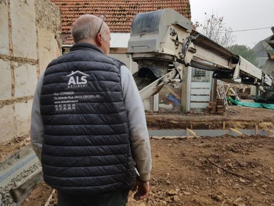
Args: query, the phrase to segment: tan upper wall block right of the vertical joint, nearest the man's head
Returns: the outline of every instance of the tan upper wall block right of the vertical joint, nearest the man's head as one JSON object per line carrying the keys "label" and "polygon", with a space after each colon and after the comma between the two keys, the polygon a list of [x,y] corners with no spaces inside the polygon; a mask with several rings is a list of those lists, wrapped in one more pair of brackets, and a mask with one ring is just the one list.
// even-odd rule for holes
{"label": "tan upper wall block right of the vertical joint, nearest the man's head", "polygon": [[47,65],[59,56],[58,43],[55,34],[45,28],[38,29],[39,67],[42,73]]}

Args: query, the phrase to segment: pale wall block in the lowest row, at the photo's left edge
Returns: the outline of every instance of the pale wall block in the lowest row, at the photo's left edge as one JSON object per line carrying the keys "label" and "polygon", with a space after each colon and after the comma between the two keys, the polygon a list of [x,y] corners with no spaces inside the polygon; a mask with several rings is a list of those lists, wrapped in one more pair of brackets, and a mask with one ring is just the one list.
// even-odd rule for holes
{"label": "pale wall block in the lowest row, at the photo's left edge", "polygon": [[12,105],[0,108],[0,144],[6,143],[16,136],[16,122],[13,116]]}

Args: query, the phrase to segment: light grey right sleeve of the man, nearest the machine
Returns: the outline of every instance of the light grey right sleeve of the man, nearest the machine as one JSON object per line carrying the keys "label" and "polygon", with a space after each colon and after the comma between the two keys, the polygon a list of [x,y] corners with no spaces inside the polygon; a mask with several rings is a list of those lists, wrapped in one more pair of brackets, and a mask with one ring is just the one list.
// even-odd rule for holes
{"label": "light grey right sleeve of the man, nearest the machine", "polygon": [[151,152],[144,105],[130,71],[121,67],[122,91],[128,117],[131,152],[140,179],[148,181],[151,171]]}

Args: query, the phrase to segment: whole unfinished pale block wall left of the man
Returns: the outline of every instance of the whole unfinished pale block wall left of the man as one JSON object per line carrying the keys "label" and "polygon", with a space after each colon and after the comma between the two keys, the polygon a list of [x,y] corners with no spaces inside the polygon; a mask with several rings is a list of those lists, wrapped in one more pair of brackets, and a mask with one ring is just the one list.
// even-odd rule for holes
{"label": "whole unfinished pale block wall left of the man", "polygon": [[60,33],[50,0],[0,0],[0,144],[29,132],[36,84],[61,52]]}

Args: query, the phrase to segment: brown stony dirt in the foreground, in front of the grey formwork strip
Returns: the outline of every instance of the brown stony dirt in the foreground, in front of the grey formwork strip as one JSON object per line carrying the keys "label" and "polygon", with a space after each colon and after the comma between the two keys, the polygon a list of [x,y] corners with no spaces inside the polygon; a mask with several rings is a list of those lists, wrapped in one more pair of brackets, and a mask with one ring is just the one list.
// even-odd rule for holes
{"label": "brown stony dirt in the foreground, in front of the grey formwork strip", "polygon": [[[274,206],[274,137],[150,139],[150,195],[127,206]],[[37,186],[23,206],[42,206]],[[51,206],[56,204],[54,195]]]}

